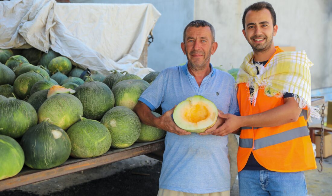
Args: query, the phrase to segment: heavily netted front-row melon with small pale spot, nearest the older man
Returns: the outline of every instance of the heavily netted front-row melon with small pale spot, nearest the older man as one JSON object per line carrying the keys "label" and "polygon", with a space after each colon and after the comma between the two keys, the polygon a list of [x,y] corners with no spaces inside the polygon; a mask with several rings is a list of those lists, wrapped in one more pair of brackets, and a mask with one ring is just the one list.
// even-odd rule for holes
{"label": "heavily netted front-row melon with small pale spot, nearest the older man", "polygon": [[112,148],[127,148],[139,137],[141,122],[131,109],[116,106],[108,110],[100,121],[110,131]]}

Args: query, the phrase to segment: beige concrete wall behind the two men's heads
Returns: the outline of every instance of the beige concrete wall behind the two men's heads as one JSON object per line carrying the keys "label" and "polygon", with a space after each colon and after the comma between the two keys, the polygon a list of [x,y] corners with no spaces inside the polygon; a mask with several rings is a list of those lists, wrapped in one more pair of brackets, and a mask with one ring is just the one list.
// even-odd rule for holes
{"label": "beige concrete wall behind the two men's heads", "polygon": [[[255,0],[195,0],[194,20],[210,22],[216,30],[218,49],[211,63],[238,68],[252,51],[242,34],[242,14]],[[332,86],[332,1],[270,0],[277,14],[275,45],[305,50],[314,63],[311,88]]]}

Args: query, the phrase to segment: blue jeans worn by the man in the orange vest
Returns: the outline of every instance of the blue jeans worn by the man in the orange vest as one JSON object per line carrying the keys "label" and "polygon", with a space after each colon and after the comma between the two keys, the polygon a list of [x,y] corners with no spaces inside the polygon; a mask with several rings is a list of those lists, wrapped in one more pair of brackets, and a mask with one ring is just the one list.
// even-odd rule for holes
{"label": "blue jeans worn by the man in the orange vest", "polygon": [[304,172],[275,172],[242,170],[239,172],[240,196],[305,196],[307,187]]}

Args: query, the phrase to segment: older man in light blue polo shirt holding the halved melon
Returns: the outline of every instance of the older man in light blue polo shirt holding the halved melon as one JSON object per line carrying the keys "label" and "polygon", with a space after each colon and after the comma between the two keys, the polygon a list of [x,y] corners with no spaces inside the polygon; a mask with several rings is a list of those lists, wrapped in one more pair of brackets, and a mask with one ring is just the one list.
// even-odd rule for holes
{"label": "older man in light blue polo shirt holding the halved melon", "polygon": [[[134,107],[142,123],[167,131],[158,196],[229,195],[227,136],[187,132],[174,123],[172,114],[181,101],[201,95],[223,113],[239,115],[235,81],[210,64],[218,46],[211,24],[202,20],[189,23],[183,39],[181,48],[188,62],[161,71]],[[151,110],[159,106],[163,115],[155,117]],[[218,118],[214,128],[221,123]]]}

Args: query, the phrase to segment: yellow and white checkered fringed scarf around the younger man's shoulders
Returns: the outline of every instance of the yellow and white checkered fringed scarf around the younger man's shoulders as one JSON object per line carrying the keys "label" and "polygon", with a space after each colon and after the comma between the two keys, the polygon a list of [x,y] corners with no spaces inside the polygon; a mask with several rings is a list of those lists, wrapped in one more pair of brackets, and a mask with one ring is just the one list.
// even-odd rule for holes
{"label": "yellow and white checkered fringed scarf around the younger man's shoulders", "polygon": [[[264,88],[267,96],[282,97],[284,93],[297,95],[294,97],[299,108],[308,106],[310,116],[319,118],[319,109],[310,106],[310,70],[313,63],[308,59],[305,51],[279,52],[272,57],[264,67],[261,64],[253,65],[254,53],[249,53],[243,60],[238,72],[236,83],[247,83],[254,88],[250,100],[255,105],[259,88]],[[258,66],[259,74],[257,74]],[[308,112],[309,113],[309,112]]]}

